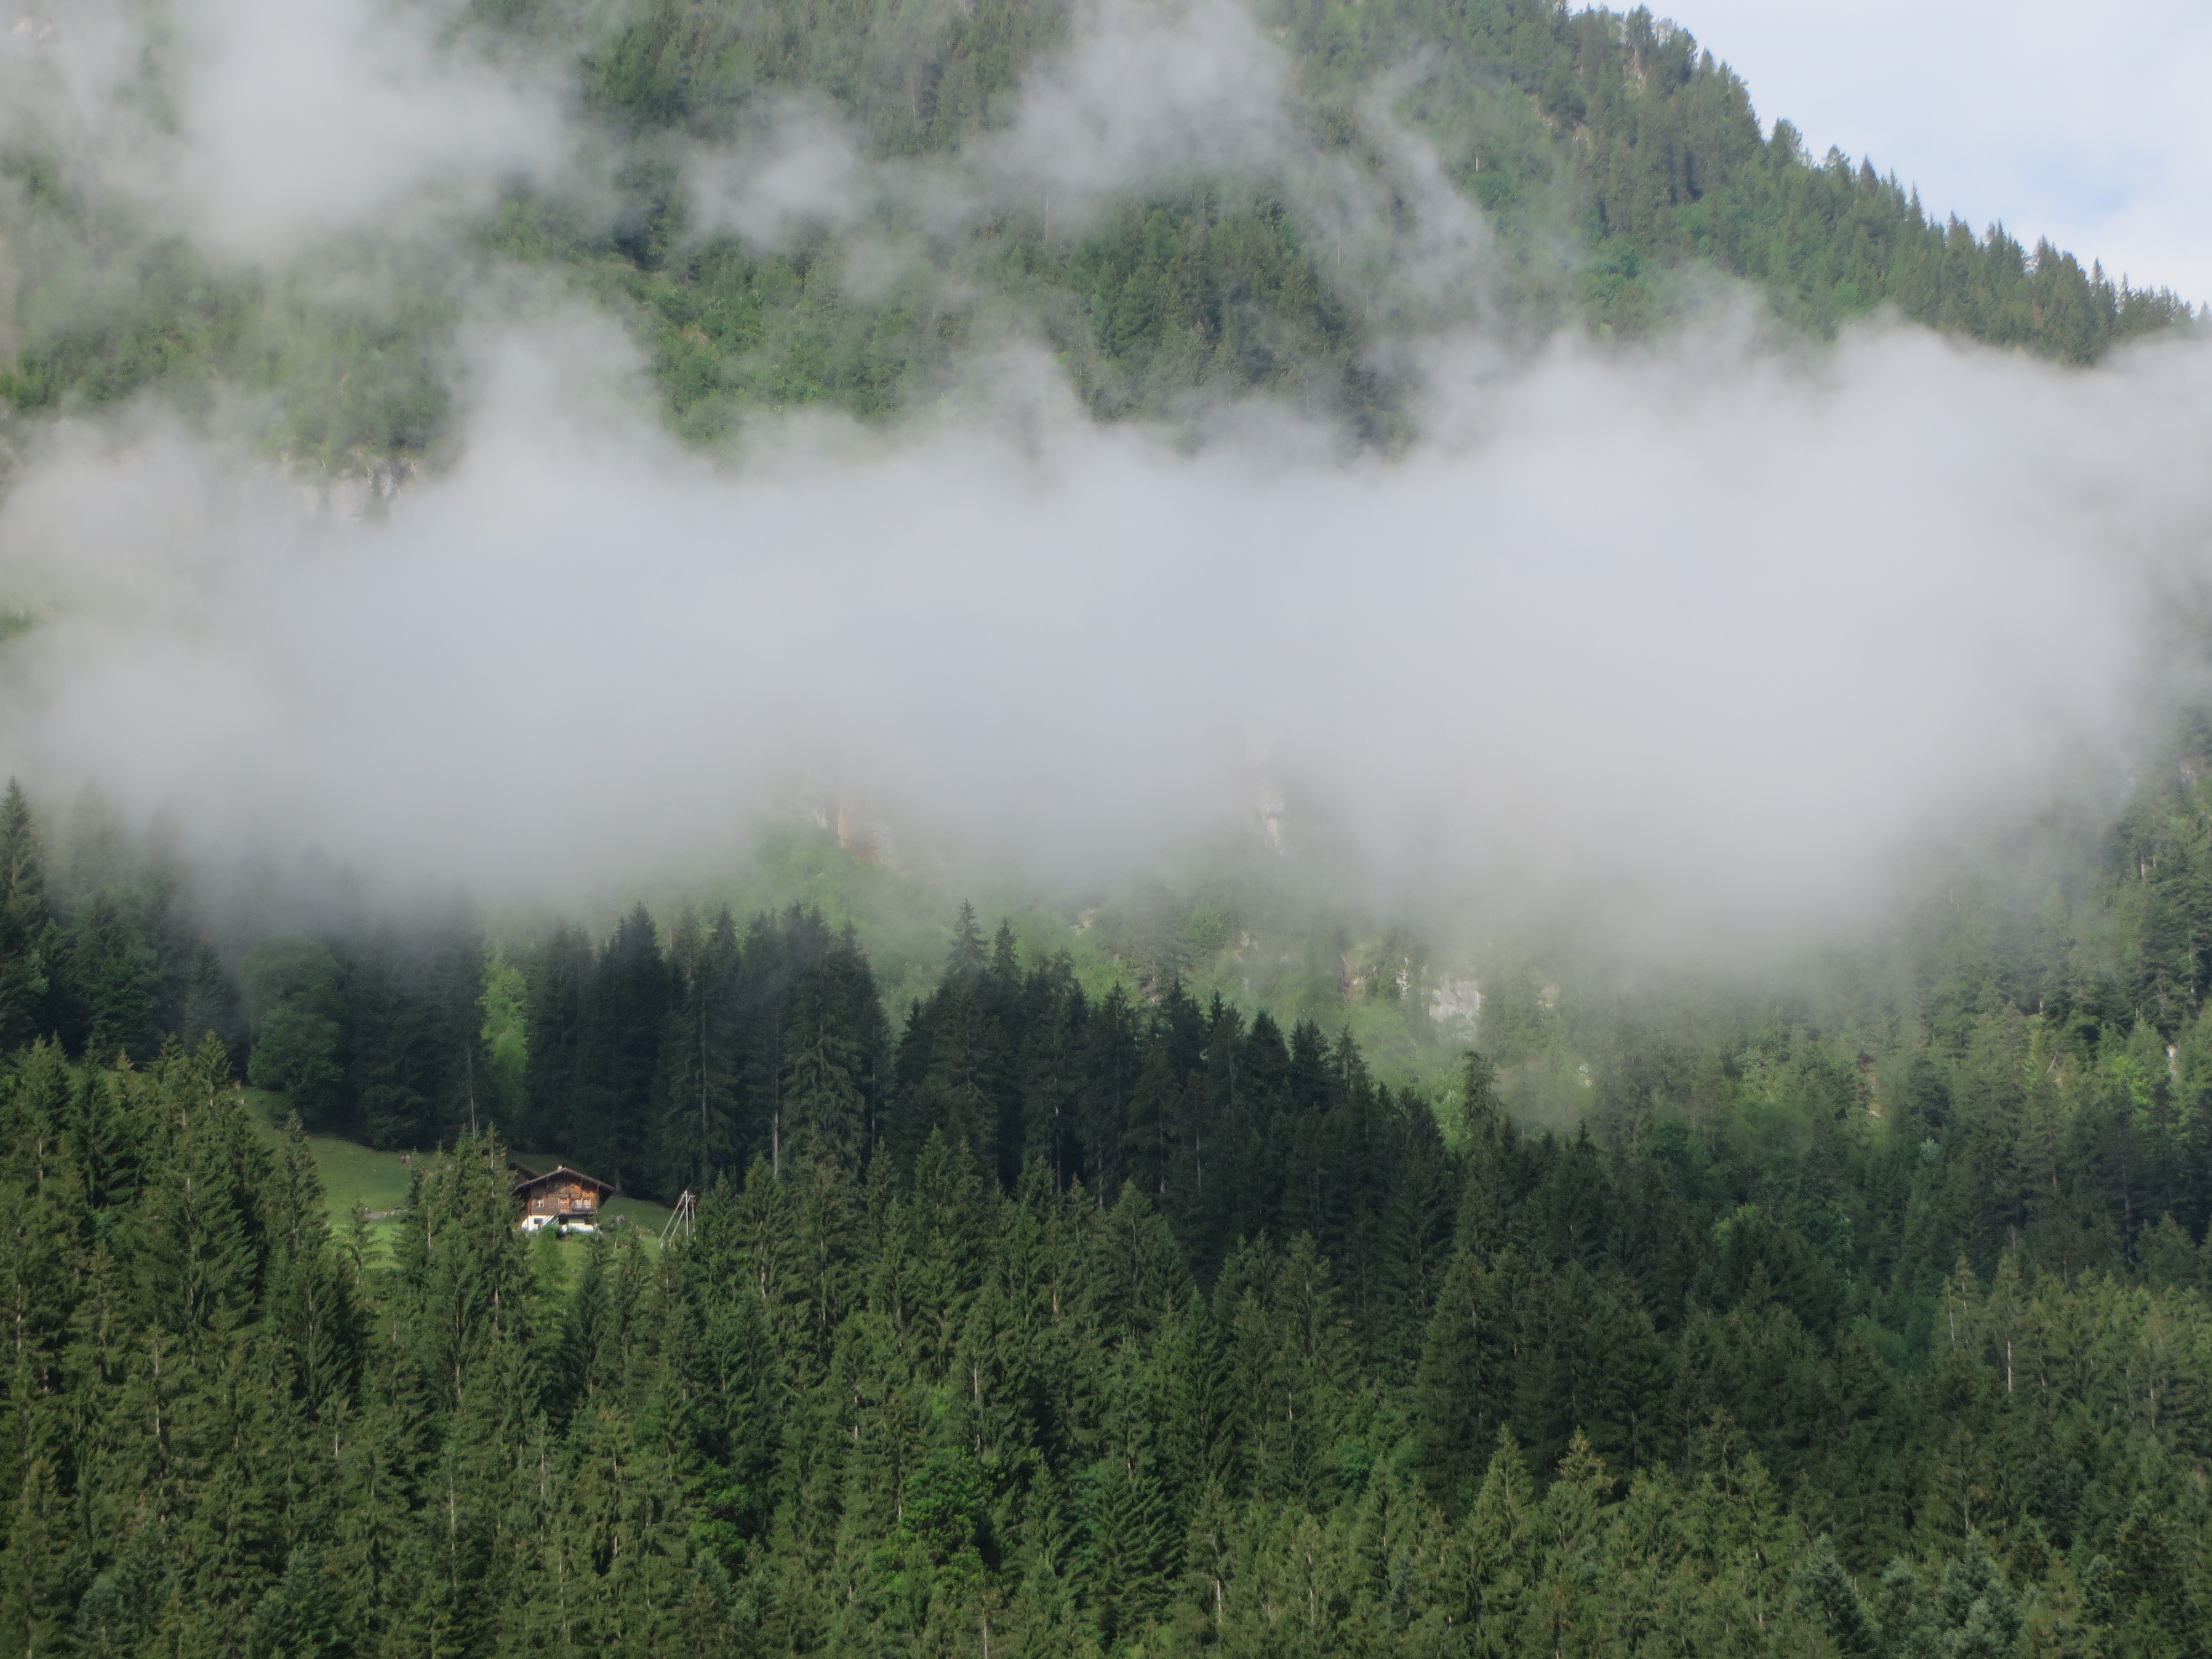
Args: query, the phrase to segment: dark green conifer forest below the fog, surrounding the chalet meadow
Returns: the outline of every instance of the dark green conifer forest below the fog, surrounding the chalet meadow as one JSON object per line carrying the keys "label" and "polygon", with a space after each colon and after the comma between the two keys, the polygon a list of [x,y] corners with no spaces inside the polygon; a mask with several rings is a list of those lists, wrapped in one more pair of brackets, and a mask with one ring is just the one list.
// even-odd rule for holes
{"label": "dark green conifer forest below the fog, surrounding the chalet meadow", "polygon": [[[270,940],[226,1031],[181,902],[49,885],[15,792],[0,1641],[2203,1652],[2212,785],[2163,776],[2039,911],[1953,887],[1803,1002],[1568,987],[1440,1102],[964,911],[896,1011],[812,914],[639,909],[489,993],[467,927]],[[1557,1133],[1502,1093],[1540,1013]],[[389,1234],[226,1035],[447,1148]],[[531,1243],[500,1130],[697,1225]]]}

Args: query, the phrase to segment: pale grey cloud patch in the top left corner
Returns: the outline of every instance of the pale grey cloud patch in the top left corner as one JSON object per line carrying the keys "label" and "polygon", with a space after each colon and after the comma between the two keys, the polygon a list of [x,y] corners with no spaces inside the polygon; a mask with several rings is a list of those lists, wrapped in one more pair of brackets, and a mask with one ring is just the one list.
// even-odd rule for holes
{"label": "pale grey cloud patch in the top left corner", "polygon": [[[568,153],[551,84],[476,55],[453,7],[124,0],[0,9],[11,133],[219,257],[451,230]],[[13,13],[9,18],[7,13]]]}

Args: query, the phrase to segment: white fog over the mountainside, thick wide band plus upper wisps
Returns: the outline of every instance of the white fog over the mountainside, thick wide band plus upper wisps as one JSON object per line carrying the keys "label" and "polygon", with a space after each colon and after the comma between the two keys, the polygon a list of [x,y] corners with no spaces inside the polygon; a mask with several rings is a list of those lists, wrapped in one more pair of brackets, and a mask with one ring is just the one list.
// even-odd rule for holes
{"label": "white fog over the mountainside, thick wide band plus upper wisps", "polygon": [[[226,257],[588,150],[405,31],[316,55],[367,15],[325,4],[261,9],[312,13],[285,27],[336,77],[332,128],[268,157],[239,104],[279,46],[217,29],[243,0],[177,11],[215,91],[126,161],[195,181]],[[1181,80],[1102,77],[1148,51],[1106,15],[1029,88],[1026,173],[967,157],[945,199],[1186,166],[1203,124],[1115,108],[1124,80],[1294,148],[1241,13],[1168,15],[1203,44]],[[407,142],[347,170],[387,119]],[[690,166],[706,221],[763,246],[896,184],[805,104]],[[1440,332],[1389,456],[1265,405],[1099,427],[1020,341],[889,429],[761,418],[697,453],[613,319],[498,281],[456,349],[458,460],[380,518],[150,407],[46,425],[0,500],[0,586],[42,619],[0,650],[0,765],[55,801],[97,781],[206,860],[312,847],[487,905],[681,883],[836,792],[962,872],[1073,891],[1194,841],[1327,845],[1374,902],[1582,898],[1641,945],[1840,927],[1931,834],[2112,803],[2190,672],[2201,341],[2097,372],[1889,323],[1776,347],[1743,301],[1502,354],[1480,219],[1418,146],[1398,166],[1429,206],[1391,281]]]}

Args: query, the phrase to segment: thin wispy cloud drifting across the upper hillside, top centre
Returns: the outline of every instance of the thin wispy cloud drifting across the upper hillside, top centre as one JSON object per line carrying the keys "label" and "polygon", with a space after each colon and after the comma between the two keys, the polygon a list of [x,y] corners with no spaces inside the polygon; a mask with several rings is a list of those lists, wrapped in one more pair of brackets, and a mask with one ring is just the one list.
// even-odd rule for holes
{"label": "thin wispy cloud drifting across the upper hillside, top centre", "polygon": [[869,159],[827,102],[763,100],[737,139],[690,148],[688,228],[763,252],[838,230],[845,276],[865,285],[920,241],[1009,212],[1068,239],[1130,195],[1225,181],[1287,201],[1332,290],[1378,334],[1493,321],[1493,237],[1433,146],[1394,117],[1402,86],[1363,102],[1363,159],[1352,159],[1292,119],[1292,73],[1237,0],[1102,0],[1031,69],[1013,122],[956,153]]}

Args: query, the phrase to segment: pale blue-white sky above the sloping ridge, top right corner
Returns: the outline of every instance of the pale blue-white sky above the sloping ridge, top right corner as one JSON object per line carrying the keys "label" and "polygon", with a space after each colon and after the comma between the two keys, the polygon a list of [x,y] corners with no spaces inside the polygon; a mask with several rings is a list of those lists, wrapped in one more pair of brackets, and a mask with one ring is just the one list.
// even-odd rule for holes
{"label": "pale blue-white sky above the sloping ridge, top right corner", "polygon": [[1834,144],[1978,230],[2004,221],[2212,301],[2212,4],[1679,0],[1672,15],[1814,155]]}

